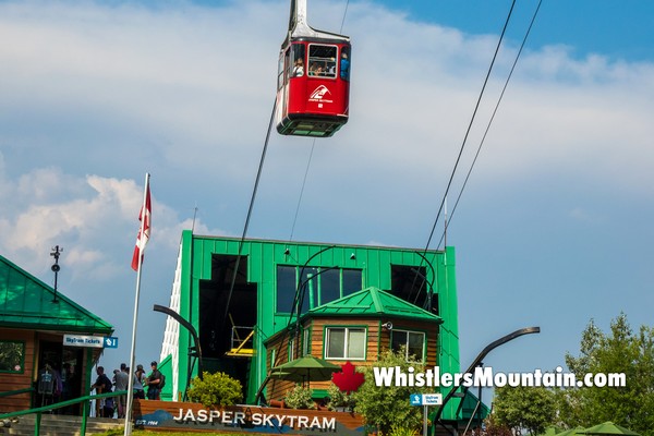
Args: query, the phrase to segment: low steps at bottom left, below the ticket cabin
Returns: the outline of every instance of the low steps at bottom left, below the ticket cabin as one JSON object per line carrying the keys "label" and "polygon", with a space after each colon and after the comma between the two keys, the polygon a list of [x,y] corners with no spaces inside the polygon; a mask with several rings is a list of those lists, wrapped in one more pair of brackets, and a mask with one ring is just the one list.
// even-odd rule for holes
{"label": "low steps at bottom left, below the ticket cabin", "polygon": [[[94,435],[106,433],[113,428],[124,426],[124,420],[110,417],[87,417],[86,434]],[[36,414],[24,415],[5,420],[0,423],[0,435],[34,435]],[[40,422],[40,436],[80,436],[82,428],[82,416],[52,415],[44,413]]]}

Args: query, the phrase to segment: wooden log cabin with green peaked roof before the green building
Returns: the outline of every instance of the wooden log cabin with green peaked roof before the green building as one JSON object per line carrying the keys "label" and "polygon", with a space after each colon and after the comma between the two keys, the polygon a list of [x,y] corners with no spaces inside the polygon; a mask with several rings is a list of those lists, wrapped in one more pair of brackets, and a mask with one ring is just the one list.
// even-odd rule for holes
{"label": "wooden log cabin with green peaked roof before the green building", "polygon": [[[298,327],[289,326],[266,340],[267,370],[304,355],[370,366],[389,349],[403,350],[409,362],[436,366],[440,324],[443,319],[433,313],[378,288],[366,288],[310,310]],[[330,384],[307,380],[312,398],[319,402]],[[267,397],[279,403],[294,386],[295,382],[270,377]]]}

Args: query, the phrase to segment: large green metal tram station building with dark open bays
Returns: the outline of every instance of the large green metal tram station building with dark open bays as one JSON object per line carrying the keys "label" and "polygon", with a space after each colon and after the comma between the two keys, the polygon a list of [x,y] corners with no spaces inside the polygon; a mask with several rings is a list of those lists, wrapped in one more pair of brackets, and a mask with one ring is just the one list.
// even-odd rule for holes
{"label": "large green metal tram station building with dark open bays", "polygon": [[[293,307],[305,314],[370,287],[437,315],[436,361],[441,372],[457,373],[455,266],[453,247],[241,241],[184,231],[170,308],[197,331],[204,370],[239,378],[247,402],[266,377],[264,341],[293,324]],[[194,347],[192,334],[169,317],[159,366],[169,380],[162,399],[182,399],[190,375],[197,374]],[[444,417],[453,414],[448,408]]]}

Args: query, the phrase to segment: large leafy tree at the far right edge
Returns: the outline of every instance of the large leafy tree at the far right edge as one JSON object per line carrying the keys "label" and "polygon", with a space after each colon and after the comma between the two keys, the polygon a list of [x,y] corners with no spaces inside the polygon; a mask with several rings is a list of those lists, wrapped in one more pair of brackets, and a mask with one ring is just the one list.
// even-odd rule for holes
{"label": "large leafy tree at the far right edge", "polygon": [[634,332],[625,314],[604,334],[591,319],[582,334],[580,355],[566,355],[578,380],[585,374],[625,374],[625,387],[579,387],[557,392],[560,420],[569,427],[606,421],[643,436],[654,436],[654,329]]}

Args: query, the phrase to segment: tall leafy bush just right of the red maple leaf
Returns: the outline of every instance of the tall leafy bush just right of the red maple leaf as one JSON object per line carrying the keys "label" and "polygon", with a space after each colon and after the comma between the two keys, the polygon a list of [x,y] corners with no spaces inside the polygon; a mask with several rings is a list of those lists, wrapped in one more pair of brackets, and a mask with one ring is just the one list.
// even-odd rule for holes
{"label": "tall leafy bush just right of the red maple leaf", "polygon": [[[375,385],[373,367],[397,366],[404,374],[408,374],[410,366],[414,368],[414,373],[424,372],[423,364],[407,362],[405,351],[400,349],[393,353],[386,350],[373,366],[360,367],[365,375],[365,383],[352,393],[352,400],[356,404],[354,412],[361,413],[367,425],[377,427],[385,435],[393,427],[420,428],[422,425],[422,408],[411,405],[410,402],[411,393],[421,392],[420,388]],[[425,389],[422,390],[426,392]]]}

